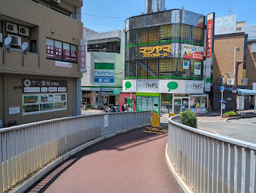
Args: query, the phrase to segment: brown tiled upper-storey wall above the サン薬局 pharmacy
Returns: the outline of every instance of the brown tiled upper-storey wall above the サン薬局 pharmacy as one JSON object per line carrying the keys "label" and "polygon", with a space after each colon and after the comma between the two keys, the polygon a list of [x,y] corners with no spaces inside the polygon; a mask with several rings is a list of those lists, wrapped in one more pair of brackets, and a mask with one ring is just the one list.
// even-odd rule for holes
{"label": "brown tiled upper-storey wall above the \u30b5\u30f3\u85ac\u5c40 pharmacy", "polygon": [[[80,40],[83,38],[83,24],[75,19],[72,19],[64,14],[51,10],[46,6],[41,6],[38,3],[29,0],[10,0],[1,1],[0,14],[10,17],[10,19],[17,19],[29,23],[29,25],[35,26],[33,28],[39,28],[38,42],[39,43],[39,62],[41,68],[38,68],[38,60],[35,59],[32,63],[25,64],[25,68],[21,68],[21,57],[18,56],[15,59],[15,63],[8,59],[8,55],[11,58],[17,57],[21,53],[10,52],[7,54],[6,65],[0,65],[1,70],[19,70],[21,72],[31,72],[31,65],[33,65],[33,72],[38,74],[52,74],[52,75],[66,75],[69,77],[82,77],[82,73],[79,72],[77,63],[72,63],[72,68],[61,68],[55,66],[55,61],[46,59],[46,37],[50,39],[56,39],[66,43],[79,45]],[[54,33],[52,33],[52,30]],[[33,30],[31,30],[31,33]],[[31,34],[37,36],[38,34]],[[75,39],[73,39],[75,37]],[[13,57],[12,57],[13,56]],[[19,65],[17,65],[19,63]],[[0,61],[1,64],[1,61]]]}

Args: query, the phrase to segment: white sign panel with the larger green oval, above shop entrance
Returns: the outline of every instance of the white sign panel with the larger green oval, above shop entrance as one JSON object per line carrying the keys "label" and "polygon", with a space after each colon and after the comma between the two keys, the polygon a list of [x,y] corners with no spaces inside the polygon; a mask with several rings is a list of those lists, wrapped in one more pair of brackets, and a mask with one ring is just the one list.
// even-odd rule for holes
{"label": "white sign panel with the larger green oval, above shop entrance", "polygon": [[185,80],[160,80],[160,93],[185,93]]}

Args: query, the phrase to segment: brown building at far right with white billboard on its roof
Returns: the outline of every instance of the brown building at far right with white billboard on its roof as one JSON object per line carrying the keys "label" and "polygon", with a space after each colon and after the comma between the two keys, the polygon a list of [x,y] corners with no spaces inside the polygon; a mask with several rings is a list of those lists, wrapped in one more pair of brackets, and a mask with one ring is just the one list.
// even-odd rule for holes
{"label": "brown building at far right with white billboard on its roof", "polygon": [[[215,111],[220,110],[220,105],[217,104],[221,99],[221,85],[225,88],[232,88],[235,85],[236,61],[243,62],[237,72],[237,88],[251,90],[252,83],[256,82],[256,26],[245,26],[246,22],[237,22],[236,17],[234,14],[217,17],[215,20],[213,89],[210,94]],[[236,93],[225,90],[226,110],[234,109],[235,97]],[[243,98],[244,109],[253,108],[254,98],[253,94],[247,94]]]}

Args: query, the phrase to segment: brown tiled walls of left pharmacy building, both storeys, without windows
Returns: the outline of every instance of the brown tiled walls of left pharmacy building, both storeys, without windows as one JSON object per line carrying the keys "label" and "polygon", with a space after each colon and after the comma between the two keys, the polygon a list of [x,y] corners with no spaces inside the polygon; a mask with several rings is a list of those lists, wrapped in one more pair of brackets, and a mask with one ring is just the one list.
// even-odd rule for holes
{"label": "brown tiled walls of left pharmacy building, both storeys, without windows", "polygon": [[[75,11],[75,6],[70,4],[72,1],[62,1],[63,4],[61,6],[71,12]],[[82,0],[75,1],[79,2],[77,4],[80,5],[82,3]],[[17,124],[23,124],[73,116],[75,114],[74,85],[77,79],[82,77],[82,73],[77,63],[72,63],[72,68],[63,68],[55,66],[55,60],[46,59],[46,38],[63,41],[79,47],[80,40],[83,38],[83,23],[48,8],[47,2],[46,6],[42,6],[30,0],[0,1],[0,23],[3,23],[3,20],[30,28],[30,40],[37,40],[37,53],[27,52],[23,54],[21,50],[7,52],[0,48],[0,119],[3,123],[17,121]],[[3,32],[3,29],[0,32]],[[25,37],[22,39],[22,42],[24,41],[26,41]],[[3,63],[3,52],[6,56],[4,57],[5,63]],[[4,81],[5,76],[6,82]],[[68,81],[68,110],[22,115],[23,93],[22,89],[19,88],[22,86],[22,79]],[[7,104],[5,104],[5,83]],[[19,114],[8,114],[10,105],[20,105],[21,112]],[[5,117],[6,112],[8,114],[7,117]]]}

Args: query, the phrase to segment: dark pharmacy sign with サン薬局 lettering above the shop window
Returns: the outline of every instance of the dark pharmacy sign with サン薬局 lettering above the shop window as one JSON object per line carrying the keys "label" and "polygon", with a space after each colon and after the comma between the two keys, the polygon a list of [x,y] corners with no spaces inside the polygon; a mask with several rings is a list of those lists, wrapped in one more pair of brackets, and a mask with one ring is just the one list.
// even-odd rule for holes
{"label": "dark pharmacy sign with \u30b5\u30f3\u85ac\u5c40 lettering above the shop window", "polygon": [[22,79],[22,92],[67,92],[68,81]]}

